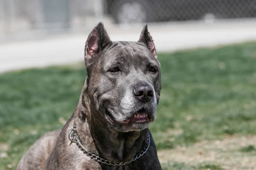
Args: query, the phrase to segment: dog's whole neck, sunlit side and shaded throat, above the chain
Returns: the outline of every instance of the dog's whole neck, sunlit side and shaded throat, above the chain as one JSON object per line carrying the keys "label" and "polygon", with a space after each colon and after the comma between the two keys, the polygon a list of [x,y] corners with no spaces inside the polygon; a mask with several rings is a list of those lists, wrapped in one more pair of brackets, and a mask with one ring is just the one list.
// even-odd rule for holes
{"label": "dog's whole neck, sunlit side and shaded throat, above the chain", "polygon": [[90,105],[86,95],[80,99],[76,113],[74,122],[80,142],[87,151],[103,159],[113,163],[130,161],[147,145],[148,129],[125,133],[113,130],[103,114]]}

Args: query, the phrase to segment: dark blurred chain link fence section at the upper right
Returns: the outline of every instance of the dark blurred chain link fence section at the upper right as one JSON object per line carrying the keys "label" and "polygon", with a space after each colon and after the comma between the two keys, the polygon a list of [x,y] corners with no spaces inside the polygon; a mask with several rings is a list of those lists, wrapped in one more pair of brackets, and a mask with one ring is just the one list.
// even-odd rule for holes
{"label": "dark blurred chain link fence section at the upper right", "polygon": [[256,0],[107,0],[116,23],[256,17]]}

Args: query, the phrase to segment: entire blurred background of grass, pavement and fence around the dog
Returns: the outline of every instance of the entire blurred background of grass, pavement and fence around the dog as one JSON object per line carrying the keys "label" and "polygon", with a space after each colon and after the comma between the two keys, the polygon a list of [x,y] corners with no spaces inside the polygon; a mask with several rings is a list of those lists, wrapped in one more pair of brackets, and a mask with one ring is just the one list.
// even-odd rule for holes
{"label": "entire blurred background of grass, pavement and fence around the dog", "polygon": [[256,0],[0,0],[0,170],[70,118],[99,21],[113,41],[148,24],[163,170],[256,170]]}

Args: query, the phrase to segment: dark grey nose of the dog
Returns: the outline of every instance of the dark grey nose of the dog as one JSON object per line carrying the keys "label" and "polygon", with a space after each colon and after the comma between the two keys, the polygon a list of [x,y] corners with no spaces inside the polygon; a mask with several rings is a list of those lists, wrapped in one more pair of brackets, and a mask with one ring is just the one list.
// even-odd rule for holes
{"label": "dark grey nose of the dog", "polygon": [[140,85],[134,88],[134,95],[142,102],[149,102],[154,92],[150,85]]}

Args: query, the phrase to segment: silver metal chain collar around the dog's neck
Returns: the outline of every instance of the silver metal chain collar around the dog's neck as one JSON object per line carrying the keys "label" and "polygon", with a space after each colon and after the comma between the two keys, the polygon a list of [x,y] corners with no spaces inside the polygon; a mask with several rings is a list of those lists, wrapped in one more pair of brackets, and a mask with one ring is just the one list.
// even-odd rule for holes
{"label": "silver metal chain collar around the dog's neck", "polygon": [[122,162],[118,162],[118,163],[111,163],[110,161],[103,159],[93,153],[87,152],[84,149],[84,146],[81,144],[81,142],[79,142],[79,135],[76,131],[76,125],[73,126],[73,129],[70,130],[69,134],[68,134],[68,139],[73,142],[76,143],[77,147],[87,156],[89,156],[91,159],[94,159],[98,162],[101,162],[103,164],[107,164],[107,165],[112,165],[112,166],[121,166],[121,165],[125,165],[125,164],[130,164],[132,161],[135,161],[136,159],[139,159],[141,156],[144,155],[144,153],[147,152],[149,145],[150,145],[150,135],[148,133],[148,144],[147,146],[137,155],[135,155],[130,161],[122,161]]}

